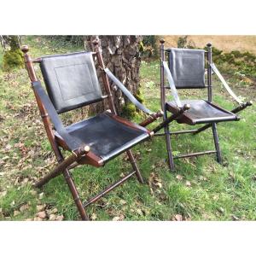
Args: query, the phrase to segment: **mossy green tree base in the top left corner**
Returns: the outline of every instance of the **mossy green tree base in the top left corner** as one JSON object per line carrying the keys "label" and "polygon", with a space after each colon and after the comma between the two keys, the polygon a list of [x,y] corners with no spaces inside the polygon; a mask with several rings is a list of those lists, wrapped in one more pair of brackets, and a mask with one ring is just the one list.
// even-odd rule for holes
{"label": "mossy green tree base in the top left corner", "polygon": [[3,46],[3,69],[9,70],[23,66],[19,36],[1,36]]}

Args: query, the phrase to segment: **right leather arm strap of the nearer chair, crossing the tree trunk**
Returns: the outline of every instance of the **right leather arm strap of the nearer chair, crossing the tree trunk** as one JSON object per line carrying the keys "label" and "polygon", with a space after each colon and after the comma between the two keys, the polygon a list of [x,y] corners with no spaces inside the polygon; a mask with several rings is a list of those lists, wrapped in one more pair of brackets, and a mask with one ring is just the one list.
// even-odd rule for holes
{"label": "right leather arm strap of the nearer chair, crossing the tree trunk", "polygon": [[113,81],[114,84],[116,84],[120,90],[122,90],[122,92],[125,94],[125,96],[140,110],[142,110],[144,113],[148,113],[148,114],[152,114],[153,112],[151,112],[148,108],[146,108],[141,102],[137,101],[137,99],[135,98],[135,96],[133,96],[131,94],[131,92],[129,90],[127,90],[127,88],[125,87],[124,84],[122,84],[119,79],[117,79],[113,73],[111,73],[111,71],[108,68],[104,69],[105,73],[107,73],[108,78],[111,79]]}

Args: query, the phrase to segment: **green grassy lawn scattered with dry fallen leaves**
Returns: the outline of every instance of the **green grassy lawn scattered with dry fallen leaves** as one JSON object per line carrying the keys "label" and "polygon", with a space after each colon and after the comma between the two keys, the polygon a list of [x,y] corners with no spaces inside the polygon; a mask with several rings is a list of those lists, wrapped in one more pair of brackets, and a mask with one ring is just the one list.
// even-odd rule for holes
{"label": "green grassy lawn scattered with dry fallen leaves", "polygon": [[[69,44],[56,44],[44,38],[27,37],[33,57],[79,50]],[[45,211],[45,219],[77,220],[79,215],[62,176],[51,180],[43,189],[32,183],[52,170],[52,153],[38,107],[32,94],[26,70],[3,73],[0,49],[0,219],[38,219]],[[39,68],[37,68],[38,70]],[[231,79],[232,88],[247,100],[256,96],[256,83],[241,85]],[[141,84],[145,105],[160,108],[159,61],[143,61]],[[214,80],[214,102],[232,109],[230,96]],[[238,86],[240,85],[240,86]],[[180,96],[198,98],[207,91],[180,90]],[[170,97],[171,98],[171,97]],[[154,137],[133,152],[146,184],[135,177],[114,189],[106,197],[88,207],[94,220],[254,220],[256,219],[256,107],[240,114],[239,122],[218,125],[224,164],[219,165],[213,155],[176,160],[176,172],[166,165],[164,137]],[[64,114],[65,123],[83,119],[83,113]],[[135,118],[135,120],[142,118]],[[155,124],[154,124],[155,125]],[[154,125],[151,125],[153,127]],[[187,129],[173,123],[172,131]],[[212,131],[172,137],[176,153],[212,150]],[[96,195],[131,170],[125,154],[102,168],[79,166],[73,170],[80,196],[85,200]]]}

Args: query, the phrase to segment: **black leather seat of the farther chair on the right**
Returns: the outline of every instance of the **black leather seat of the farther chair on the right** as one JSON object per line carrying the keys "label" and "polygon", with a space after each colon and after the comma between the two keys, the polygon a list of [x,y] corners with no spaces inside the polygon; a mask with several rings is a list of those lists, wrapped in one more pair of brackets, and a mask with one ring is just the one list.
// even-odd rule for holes
{"label": "black leather seat of the farther chair on the right", "polygon": [[[185,123],[188,125],[218,123],[223,121],[238,120],[235,113],[231,113],[224,108],[214,105],[212,102],[205,100],[187,100],[182,101],[183,104],[189,104],[190,108],[183,113],[178,123]],[[177,113],[178,108],[175,102],[166,102],[166,109],[171,113]]]}

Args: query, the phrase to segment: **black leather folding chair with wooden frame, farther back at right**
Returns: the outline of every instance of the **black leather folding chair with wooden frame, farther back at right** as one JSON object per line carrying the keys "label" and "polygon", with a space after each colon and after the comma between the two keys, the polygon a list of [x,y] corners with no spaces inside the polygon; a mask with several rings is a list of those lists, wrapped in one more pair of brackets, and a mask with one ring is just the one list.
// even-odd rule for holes
{"label": "black leather folding chair with wooden frame, farther back at right", "polygon": [[[174,170],[174,159],[193,157],[201,154],[216,154],[218,163],[222,162],[221,152],[218,142],[216,124],[219,122],[239,120],[236,113],[252,105],[252,102],[241,102],[241,99],[230,89],[223,76],[218,72],[217,67],[212,62],[212,44],[207,44],[207,51],[204,49],[165,49],[165,41],[160,40],[160,96],[161,108],[164,112],[164,119],[168,119],[167,113],[177,114],[181,108],[186,106],[186,111],[180,113],[176,118],[177,123],[187,125],[203,125],[199,129],[187,131],[170,131],[169,123],[164,127],[166,137],[167,156],[170,169]],[[168,55],[168,62],[165,55]],[[205,84],[205,55],[207,61],[207,85]],[[225,110],[212,102],[212,72],[216,73],[224,88],[230,96],[239,104],[231,111]],[[165,85],[165,75],[168,85]],[[180,101],[177,94],[178,89],[203,89],[207,88],[207,100],[185,100]],[[166,89],[171,89],[174,101],[166,102]],[[183,106],[184,105],[184,106]],[[198,134],[212,127],[215,150],[208,150],[192,154],[179,154],[173,156],[171,146],[171,136],[174,134],[192,133]]]}

